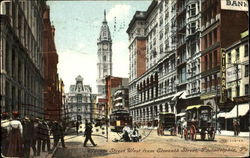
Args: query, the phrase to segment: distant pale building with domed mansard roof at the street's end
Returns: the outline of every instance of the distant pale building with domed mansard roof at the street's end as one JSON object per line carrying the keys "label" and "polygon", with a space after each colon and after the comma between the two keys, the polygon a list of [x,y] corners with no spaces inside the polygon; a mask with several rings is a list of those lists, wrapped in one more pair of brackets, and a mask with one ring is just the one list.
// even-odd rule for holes
{"label": "distant pale building with domed mansard roof at the street's end", "polygon": [[89,85],[84,85],[83,78],[76,77],[76,84],[70,85],[69,93],[66,93],[66,106],[70,121],[85,122],[92,121],[93,114],[92,89]]}

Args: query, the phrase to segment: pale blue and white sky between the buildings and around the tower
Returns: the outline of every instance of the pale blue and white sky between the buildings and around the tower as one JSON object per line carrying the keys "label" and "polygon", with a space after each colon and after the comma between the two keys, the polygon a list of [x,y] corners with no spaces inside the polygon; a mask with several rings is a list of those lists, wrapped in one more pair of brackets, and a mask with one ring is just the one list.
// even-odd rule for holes
{"label": "pale blue and white sky between the buildings and around the tower", "polygon": [[97,38],[106,9],[112,37],[113,76],[129,77],[129,50],[126,30],[136,11],[146,11],[152,0],[48,1],[50,20],[55,26],[59,56],[58,73],[65,92],[81,75],[83,84],[96,93]]}

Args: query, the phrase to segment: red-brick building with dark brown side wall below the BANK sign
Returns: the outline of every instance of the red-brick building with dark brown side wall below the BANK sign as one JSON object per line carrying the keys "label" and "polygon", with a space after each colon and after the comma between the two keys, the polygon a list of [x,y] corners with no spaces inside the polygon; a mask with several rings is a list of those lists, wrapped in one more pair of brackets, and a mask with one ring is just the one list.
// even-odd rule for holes
{"label": "red-brick building with dark brown side wall below the BANK sign", "polygon": [[[220,2],[208,0],[201,5],[201,100],[214,110],[221,100],[218,97],[224,93],[221,91],[221,49],[240,40],[240,33],[248,28],[245,12],[222,10]],[[223,107],[218,110],[220,108]]]}

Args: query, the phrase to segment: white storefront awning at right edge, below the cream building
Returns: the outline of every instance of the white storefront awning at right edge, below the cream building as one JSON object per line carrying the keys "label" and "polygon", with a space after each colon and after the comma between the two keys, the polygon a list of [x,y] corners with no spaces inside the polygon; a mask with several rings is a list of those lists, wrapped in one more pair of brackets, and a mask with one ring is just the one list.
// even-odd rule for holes
{"label": "white storefront awning at right edge, below the cream building", "polygon": [[[238,105],[238,116],[245,116],[248,111],[249,111],[248,103]],[[229,118],[236,118],[236,117],[237,117],[237,105],[235,105],[234,108],[226,114],[225,118],[229,119]]]}

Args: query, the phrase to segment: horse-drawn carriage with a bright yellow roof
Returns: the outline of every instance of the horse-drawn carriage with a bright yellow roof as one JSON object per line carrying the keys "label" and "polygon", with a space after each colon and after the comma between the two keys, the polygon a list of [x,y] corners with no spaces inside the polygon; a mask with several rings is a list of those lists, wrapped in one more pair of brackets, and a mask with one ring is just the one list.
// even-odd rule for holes
{"label": "horse-drawn carriage with a bright yellow roof", "polygon": [[215,128],[212,121],[213,109],[209,105],[191,105],[186,108],[187,127],[184,128],[184,138],[196,140],[200,134],[201,140],[214,140]]}

